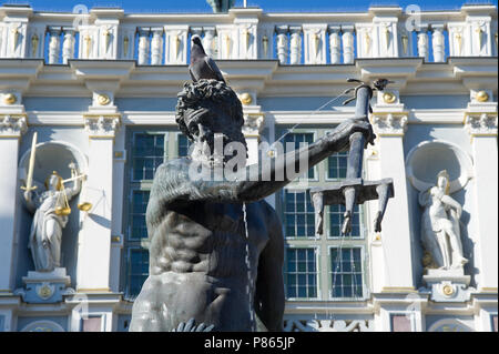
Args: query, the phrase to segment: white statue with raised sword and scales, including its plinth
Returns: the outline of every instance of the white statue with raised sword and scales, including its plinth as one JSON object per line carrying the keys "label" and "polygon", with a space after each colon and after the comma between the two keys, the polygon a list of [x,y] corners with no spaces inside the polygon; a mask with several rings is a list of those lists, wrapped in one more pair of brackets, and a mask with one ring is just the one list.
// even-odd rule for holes
{"label": "white statue with raised sword and scales, including its plinth", "polygon": [[[35,185],[33,180],[34,162],[37,158],[37,138],[34,132],[29,156],[26,185],[21,186],[27,210],[33,214],[29,231],[28,247],[34,263],[34,271],[23,276],[26,289],[20,289],[24,302],[53,303],[62,300],[63,294],[72,293],[69,287],[70,276],[61,264],[61,245],[63,230],[71,214],[70,200],[78,194],[80,202],[78,209],[89,212],[92,203],[85,201],[85,189],[82,191],[82,181],[86,175],[79,173],[74,161],[69,163],[71,178],[63,179],[57,171],[50,173],[44,180],[45,190]],[[70,158],[71,160],[74,158]],[[62,159],[62,156],[61,156]],[[68,185],[72,182],[72,185]]]}

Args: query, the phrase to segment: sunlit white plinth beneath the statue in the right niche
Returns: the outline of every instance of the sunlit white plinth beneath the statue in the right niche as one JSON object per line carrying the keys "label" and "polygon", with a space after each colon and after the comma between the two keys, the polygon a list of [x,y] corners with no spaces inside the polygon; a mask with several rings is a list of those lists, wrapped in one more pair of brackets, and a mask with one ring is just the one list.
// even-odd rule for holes
{"label": "sunlit white plinth beneath the statue in the right niche", "polygon": [[422,281],[431,291],[430,300],[435,302],[465,302],[470,299],[468,285],[470,275],[465,275],[465,270],[428,270]]}

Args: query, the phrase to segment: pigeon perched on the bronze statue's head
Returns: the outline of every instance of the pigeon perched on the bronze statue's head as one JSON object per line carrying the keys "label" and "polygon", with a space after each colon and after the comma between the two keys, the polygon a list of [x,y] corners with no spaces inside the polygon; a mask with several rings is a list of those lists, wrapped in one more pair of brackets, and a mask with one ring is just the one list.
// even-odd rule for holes
{"label": "pigeon perched on the bronze statue's head", "polygon": [[189,73],[194,82],[197,82],[200,79],[214,79],[226,83],[215,61],[206,55],[201,38],[197,34],[192,37]]}

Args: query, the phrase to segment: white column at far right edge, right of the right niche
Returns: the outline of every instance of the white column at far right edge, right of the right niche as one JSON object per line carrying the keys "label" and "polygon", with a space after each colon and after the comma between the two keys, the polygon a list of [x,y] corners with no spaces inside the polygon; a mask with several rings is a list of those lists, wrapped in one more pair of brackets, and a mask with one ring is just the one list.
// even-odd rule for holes
{"label": "white column at far right edge, right of the right niche", "polygon": [[493,111],[468,111],[465,128],[471,136],[475,162],[475,230],[478,246],[477,287],[480,292],[498,289],[498,148],[497,103]]}

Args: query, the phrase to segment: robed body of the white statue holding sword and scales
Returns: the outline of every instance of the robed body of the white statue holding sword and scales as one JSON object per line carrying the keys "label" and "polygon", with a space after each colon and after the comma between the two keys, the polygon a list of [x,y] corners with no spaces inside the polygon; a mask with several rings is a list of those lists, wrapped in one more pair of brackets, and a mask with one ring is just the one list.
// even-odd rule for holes
{"label": "robed body of the white statue holding sword and scales", "polygon": [[24,201],[28,210],[34,213],[31,224],[28,247],[37,272],[51,272],[61,266],[62,230],[68,223],[71,212],[69,200],[81,190],[81,179],[78,178],[74,163],[71,169],[72,188],[64,188],[62,178],[53,171],[45,179],[44,192],[27,189]]}

